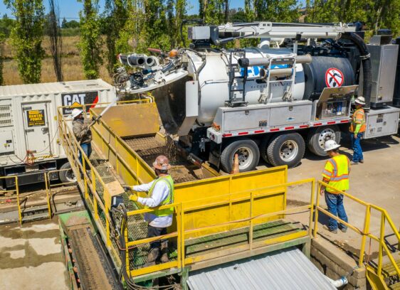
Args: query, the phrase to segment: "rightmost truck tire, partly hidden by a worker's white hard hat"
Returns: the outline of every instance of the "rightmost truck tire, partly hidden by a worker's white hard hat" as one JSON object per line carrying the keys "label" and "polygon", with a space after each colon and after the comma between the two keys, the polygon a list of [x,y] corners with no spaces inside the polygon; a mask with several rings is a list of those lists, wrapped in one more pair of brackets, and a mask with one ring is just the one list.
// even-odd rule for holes
{"label": "rightmost truck tire, partly hidden by a worker's white hard hat", "polygon": [[317,156],[327,156],[324,151],[325,142],[335,140],[340,143],[340,129],[336,125],[312,128],[308,133],[307,146]]}

